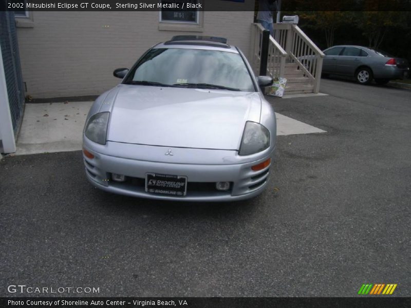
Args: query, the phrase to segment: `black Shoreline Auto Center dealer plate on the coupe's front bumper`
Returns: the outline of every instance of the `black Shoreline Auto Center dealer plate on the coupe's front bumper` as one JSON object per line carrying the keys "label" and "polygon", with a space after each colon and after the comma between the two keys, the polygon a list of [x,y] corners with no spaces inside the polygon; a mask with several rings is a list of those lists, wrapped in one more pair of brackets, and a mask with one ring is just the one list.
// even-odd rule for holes
{"label": "black Shoreline Auto Center dealer plate on the coupe's front bumper", "polygon": [[150,194],[181,197],[187,192],[187,177],[147,173],[145,191]]}

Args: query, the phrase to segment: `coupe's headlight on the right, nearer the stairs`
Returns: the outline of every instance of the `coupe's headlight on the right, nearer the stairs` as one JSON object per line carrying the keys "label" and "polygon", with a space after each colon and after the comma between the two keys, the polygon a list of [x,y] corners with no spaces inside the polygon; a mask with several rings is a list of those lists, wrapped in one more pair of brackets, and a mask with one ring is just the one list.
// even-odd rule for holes
{"label": "coupe's headlight on the right, nearer the stairs", "polygon": [[240,145],[239,155],[251,155],[270,146],[270,132],[263,125],[247,121]]}

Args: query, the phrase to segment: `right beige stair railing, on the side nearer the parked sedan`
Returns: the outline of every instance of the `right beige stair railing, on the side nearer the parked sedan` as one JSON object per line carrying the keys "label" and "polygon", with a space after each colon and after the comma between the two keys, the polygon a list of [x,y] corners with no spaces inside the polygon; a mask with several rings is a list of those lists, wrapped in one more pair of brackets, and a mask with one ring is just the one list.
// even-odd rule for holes
{"label": "right beige stair railing, on the side nearer the parked sedan", "polygon": [[324,53],[298,27],[274,24],[274,38],[288,55],[288,62],[296,63],[313,84],[313,92],[320,91]]}

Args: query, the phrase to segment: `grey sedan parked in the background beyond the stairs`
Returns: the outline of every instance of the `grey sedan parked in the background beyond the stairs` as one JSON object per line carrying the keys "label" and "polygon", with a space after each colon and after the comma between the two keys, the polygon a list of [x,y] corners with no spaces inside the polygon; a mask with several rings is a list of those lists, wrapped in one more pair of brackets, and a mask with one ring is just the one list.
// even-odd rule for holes
{"label": "grey sedan parked in the background beyond the stairs", "polygon": [[324,50],[323,74],[336,74],[356,78],[360,84],[377,84],[404,79],[408,75],[408,62],[384,51],[363,46],[339,45]]}

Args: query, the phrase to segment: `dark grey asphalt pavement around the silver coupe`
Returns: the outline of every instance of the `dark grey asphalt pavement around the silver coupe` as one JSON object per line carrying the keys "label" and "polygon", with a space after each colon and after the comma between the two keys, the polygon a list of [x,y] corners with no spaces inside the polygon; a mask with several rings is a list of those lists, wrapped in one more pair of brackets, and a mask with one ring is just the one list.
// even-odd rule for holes
{"label": "dark grey asphalt pavement around the silver coupe", "polygon": [[0,296],[411,296],[411,95],[324,79],[323,97],[270,98],[326,133],[279,136],[264,194],[235,203],[111,195],[80,151],[0,161]]}

